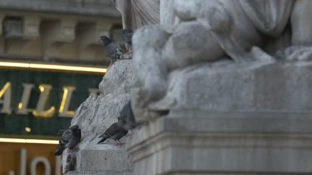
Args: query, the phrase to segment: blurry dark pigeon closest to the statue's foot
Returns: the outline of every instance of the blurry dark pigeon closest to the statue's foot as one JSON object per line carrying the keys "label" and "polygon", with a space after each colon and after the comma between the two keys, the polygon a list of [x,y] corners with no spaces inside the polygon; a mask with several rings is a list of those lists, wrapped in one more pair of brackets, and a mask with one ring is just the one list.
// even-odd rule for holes
{"label": "blurry dark pigeon closest to the statue's foot", "polygon": [[134,119],[134,115],[131,109],[131,101],[129,100],[127,104],[124,105],[120,112],[121,122],[118,124],[126,130],[132,130],[135,127],[141,125],[141,123],[136,123]]}

